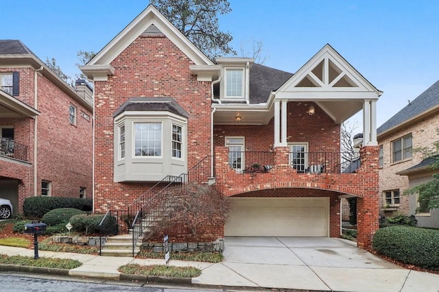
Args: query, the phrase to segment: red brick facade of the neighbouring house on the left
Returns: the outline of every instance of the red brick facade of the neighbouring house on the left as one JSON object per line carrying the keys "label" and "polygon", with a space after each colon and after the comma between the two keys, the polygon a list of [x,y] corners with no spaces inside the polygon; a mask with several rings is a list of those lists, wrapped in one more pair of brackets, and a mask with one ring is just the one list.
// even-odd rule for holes
{"label": "red brick facade of the neighbouring house on the left", "polygon": [[[46,70],[45,72],[43,72]],[[93,113],[91,106],[83,106],[75,100],[73,93],[67,93],[51,81],[47,68],[37,73],[32,66],[2,68],[0,72],[19,71],[19,96],[40,114],[31,117],[1,117],[0,127],[14,128],[14,143],[27,147],[25,160],[0,158],[0,178],[3,181],[18,180],[18,190],[8,193],[14,205],[14,214],[23,212],[25,197],[41,194],[41,180],[51,182],[51,195],[79,197],[80,186],[86,188],[86,197],[92,195],[92,151]],[[54,78],[51,76],[51,78]],[[37,104],[34,103],[34,88],[37,86]],[[79,99],[80,97],[78,97]],[[77,125],[69,122],[69,105],[77,109]],[[88,121],[81,117],[86,114]],[[37,135],[34,125],[37,123]],[[37,178],[34,180],[34,143],[37,138]],[[14,148],[17,151],[18,145]],[[36,192],[34,186],[36,185]]]}

